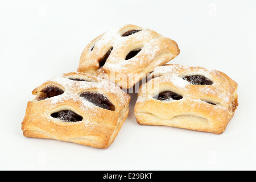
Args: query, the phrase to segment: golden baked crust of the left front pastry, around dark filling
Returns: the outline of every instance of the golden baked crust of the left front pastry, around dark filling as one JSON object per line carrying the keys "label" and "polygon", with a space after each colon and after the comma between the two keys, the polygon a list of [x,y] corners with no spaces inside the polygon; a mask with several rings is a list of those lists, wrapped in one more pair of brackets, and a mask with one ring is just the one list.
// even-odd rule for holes
{"label": "golden baked crust of the left front pastry, around dark filling", "polygon": [[[43,98],[48,86],[59,95]],[[99,93],[108,98],[114,109],[96,106],[81,97],[81,93]],[[107,148],[113,143],[129,113],[130,96],[114,83],[86,73],[64,73],[51,78],[32,91],[35,100],[28,102],[22,122],[23,135],[79,143]],[[69,110],[80,115],[82,121],[67,122],[52,117],[53,113]],[[65,117],[65,115],[64,115]]]}

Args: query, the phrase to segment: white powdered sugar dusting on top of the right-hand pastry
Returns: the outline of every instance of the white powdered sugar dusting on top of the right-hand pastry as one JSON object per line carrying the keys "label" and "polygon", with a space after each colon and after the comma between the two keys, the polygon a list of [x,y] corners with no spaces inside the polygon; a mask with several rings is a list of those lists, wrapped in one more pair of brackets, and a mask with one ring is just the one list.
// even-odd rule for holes
{"label": "white powdered sugar dusting on top of the right-hand pastry", "polygon": [[[213,82],[210,85],[193,85],[190,82],[183,79],[184,76],[201,75],[209,78]],[[160,87],[167,84],[171,84],[174,88],[179,90],[178,94],[183,96],[183,99],[179,100],[179,103],[183,103],[187,100],[193,101],[195,105],[204,104],[204,107],[210,107],[212,109],[228,109],[230,102],[232,102],[234,88],[225,76],[221,72],[216,70],[209,70],[204,67],[188,67],[177,64],[167,64],[160,67],[156,67],[154,72],[151,73],[153,77],[151,82],[143,85],[142,88],[148,87],[149,84],[154,82],[154,90],[160,89]],[[147,85],[147,86],[146,86]],[[171,87],[172,87],[171,86]],[[167,88],[167,87],[165,87]],[[161,90],[163,90],[162,88]],[[170,90],[174,91],[174,90]],[[157,91],[156,91],[157,92]],[[144,102],[153,99],[152,96],[148,98],[148,93],[139,94],[139,102]],[[171,100],[159,101],[170,102]],[[212,102],[213,104],[206,104]],[[197,103],[197,104],[196,104]]]}

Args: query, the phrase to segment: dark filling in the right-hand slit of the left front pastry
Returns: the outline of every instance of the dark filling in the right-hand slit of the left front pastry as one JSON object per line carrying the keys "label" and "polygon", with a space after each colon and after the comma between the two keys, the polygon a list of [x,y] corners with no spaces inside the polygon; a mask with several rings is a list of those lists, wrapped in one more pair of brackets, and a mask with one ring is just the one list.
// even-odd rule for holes
{"label": "dark filling in the right-hand slit of the left front pastry", "polygon": [[80,97],[103,109],[115,110],[115,106],[108,100],[108,98],[100,93],[84,92],[80,94]]}

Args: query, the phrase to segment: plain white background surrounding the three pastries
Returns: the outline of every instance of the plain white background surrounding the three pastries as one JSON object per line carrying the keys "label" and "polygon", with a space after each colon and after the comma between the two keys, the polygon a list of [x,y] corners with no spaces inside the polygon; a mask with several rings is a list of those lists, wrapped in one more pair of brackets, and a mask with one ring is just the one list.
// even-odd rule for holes
{"label": "plain white background surrounding the three pastries", "polygon": [[[238,83],[239,106],[221,135],[140,126],[133,107],[105,150],[26,138],[20,124],[32,90],[76,71],[82,50],[122,24],[155,30],[177,42],[171,63],[225,72]],[[2,170],[256,169],[256,1],[0,0]]]}

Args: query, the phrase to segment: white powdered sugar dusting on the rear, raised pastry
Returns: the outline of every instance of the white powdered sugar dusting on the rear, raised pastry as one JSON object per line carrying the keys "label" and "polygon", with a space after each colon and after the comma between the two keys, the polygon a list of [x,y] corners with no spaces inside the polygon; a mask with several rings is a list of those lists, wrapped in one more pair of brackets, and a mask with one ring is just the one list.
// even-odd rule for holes
{"label": "white powdered sugar dusting on the rear, raised pastry", "polygon": [[[124,30],[129,31],[131,28],[140,31],[129,36],[121,36]],[[86,56],[86,59],[84,59],[86,64],[83,64],[82,67],[97,65],[98,60],[104,55],[104,51],[113,47],[113,50],[104,65],[105,71],[123,72],[127,71],[127,67],[132,67],[131,69],[134,69],[135,67],[143,68],[145,65],[149,65],[158,55],[159,51],[163,49],[165,43],[160,42],[159,38],[161,37],[163,36],[155,31],[138,26],[123,25],[113,28],[112,30],[106,31],[102,36],[95,40],[96,43],[93,51],[91,51],[91,48],[86,49],[88,51],[88,53],[84,53]],[[91,44],[88,44],[88,46],[91,47]],[[133,47],[133,49],[130,49],[130,47]],[[138,55],[142,56],[136,56],[136,61],[133,58],[129,61],[125,60],[126,55],[134,49],[141,49]],[[167,60],[159,60],[158,63],[156,63],[156,66],[162,65],[166,61]]]}

